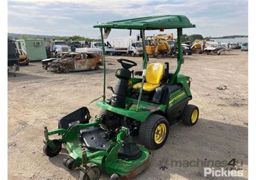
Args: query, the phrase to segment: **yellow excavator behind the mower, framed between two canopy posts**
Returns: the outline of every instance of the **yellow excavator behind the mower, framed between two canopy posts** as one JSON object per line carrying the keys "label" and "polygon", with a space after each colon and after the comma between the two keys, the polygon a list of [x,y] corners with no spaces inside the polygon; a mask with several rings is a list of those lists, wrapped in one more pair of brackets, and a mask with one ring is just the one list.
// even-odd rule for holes
{"label": "yellow excavator behind the mower, framed between two canopy posts", "polygon": [[158,34],[146,37],[146,52],[149,56],[157,57],[158,54],[171,54],[171,46],[168,41],[173,39],[173,33]]}

